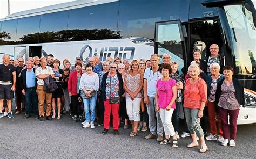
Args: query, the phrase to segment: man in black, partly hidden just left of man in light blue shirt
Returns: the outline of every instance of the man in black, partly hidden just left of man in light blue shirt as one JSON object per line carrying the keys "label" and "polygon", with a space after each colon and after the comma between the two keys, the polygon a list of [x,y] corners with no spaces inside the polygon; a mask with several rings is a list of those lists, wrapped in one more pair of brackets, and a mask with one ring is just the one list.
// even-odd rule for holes
{"label": "man in black, partly hidden just left of man in light blue shirt", "polygon": [[24,59],[21,57],[18,59],[19,66],[15,67],[16,69],[16,90],[15,90],[15,103],[16,103],[16,112],[15,114],[21,113],[21,109],[25,110],[25,97],[22,94],[21,86],[19,85],[19,74],[25,67]]}

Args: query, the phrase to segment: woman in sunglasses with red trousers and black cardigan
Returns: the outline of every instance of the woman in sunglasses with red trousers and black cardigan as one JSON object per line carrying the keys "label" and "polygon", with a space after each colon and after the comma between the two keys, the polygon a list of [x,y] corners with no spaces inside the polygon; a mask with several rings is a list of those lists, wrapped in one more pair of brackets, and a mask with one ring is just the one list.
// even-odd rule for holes
{"label": "woman in sunglasses with red trousers and black cardigan", "polygon": [[122,101],[123,95],[123,78],[120,73],[117,72],[117,64],[110,63],[110,71],[105,73],[102,77],[102,99],[104,101],[104,130],[102,134],[109,132],[110,114],[112,110],[113,114],[113,129],[114,134],[119,135],[119,105]]}

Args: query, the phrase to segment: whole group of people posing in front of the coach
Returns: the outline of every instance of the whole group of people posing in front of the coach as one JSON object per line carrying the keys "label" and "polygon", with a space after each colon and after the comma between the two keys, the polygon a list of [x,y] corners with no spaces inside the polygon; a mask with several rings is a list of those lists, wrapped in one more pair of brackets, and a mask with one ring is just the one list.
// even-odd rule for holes
{"label": "whole group of people posing in front of the coach", "polygon": [[63,69],[53,55],[29,57],[25,65],[19,58],[16,67],[10,63],[9,55],[4,55],[0,65],[0,118],[14,117],[11,101],[15,94],[15,114],[25,110],[24,118],[35,114],[36,119],[45,121],[45,115],[47,120],[52,120],[70,112],[73,122],[82,121],[84,128],[95,128],[96,122],[98,126],[103,125],[102,134],[109,132],[112,120],[115,135],[119,134],[122,118],[124,129],[129,128],[130,120],[132,138],[149,128],[150,134],[145,139],[157,138],[164,145],[171,143],[172,138],[172,147],[178,147],[179,119],[185,119],[181,137],[192,136],[188,148],[199,147],[200,140],[199,151],[205,153],[208,131],[206,140],[235,146],[244,89],[232,77],[233,68],[225,66],[218,45],[212,44],[210,52],[205,62],[200,59],[200,49],[194,49],[185,76],[179,73],[179,64],[171,62],[169,54],[163,55],[163,64],[159,64],[157,54],[147,61],[131,62],[119,57],[114,60],[107,57],[100,62],[99,56],[93,55],[86,64],[76,57],[72,67],[69,60],[63,60]]}

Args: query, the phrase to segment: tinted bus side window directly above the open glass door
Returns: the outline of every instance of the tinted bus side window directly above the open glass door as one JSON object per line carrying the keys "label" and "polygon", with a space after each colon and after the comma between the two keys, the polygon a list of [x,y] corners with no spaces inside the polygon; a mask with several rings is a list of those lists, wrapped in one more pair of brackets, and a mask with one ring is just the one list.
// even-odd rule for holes
{"label": "tinted bus side window directly above the open glass door", "polygon": [[154,39],[156,21],[187,19],[186,1],[120,1],[118,30],[123,38],[144,37]]}

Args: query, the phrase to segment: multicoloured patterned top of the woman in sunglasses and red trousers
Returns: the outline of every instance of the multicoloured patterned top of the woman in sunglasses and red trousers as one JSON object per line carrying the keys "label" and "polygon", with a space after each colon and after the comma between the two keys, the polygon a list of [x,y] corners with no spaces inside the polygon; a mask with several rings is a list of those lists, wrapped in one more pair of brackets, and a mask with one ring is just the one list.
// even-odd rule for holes
{"label": "multicoloured patterned top of the woman in sunglasses and red trousers", "polygon": [[114,77],[111,77],[110,74],[106,78],[106,99],[110,97],[119,97],[119,81],[117,74]]}

